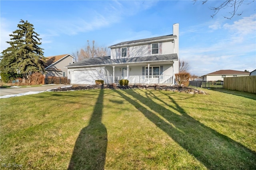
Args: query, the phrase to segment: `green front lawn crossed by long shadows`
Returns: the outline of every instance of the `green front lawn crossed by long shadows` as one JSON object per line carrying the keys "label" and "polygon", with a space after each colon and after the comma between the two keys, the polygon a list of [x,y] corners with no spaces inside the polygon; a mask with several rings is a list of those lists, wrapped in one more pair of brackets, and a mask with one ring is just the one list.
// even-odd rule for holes
{"label": "green front lawn crossed by long shadows", "polygon": [[255,169],[256,95],[80,90],[1,99],[0,160],[24,169]]}

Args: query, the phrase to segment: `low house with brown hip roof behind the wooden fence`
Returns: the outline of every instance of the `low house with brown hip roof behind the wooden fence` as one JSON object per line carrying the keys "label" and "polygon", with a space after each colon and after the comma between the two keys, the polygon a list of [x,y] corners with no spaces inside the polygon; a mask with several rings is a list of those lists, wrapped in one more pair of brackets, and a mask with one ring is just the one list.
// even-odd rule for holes
{"label": "low house with brown hip roof behind the wooden fence", "polygon": [[238,76],[249,76],[250,72],[236,71],[236,70],[218,70],[209,74],[203,75],[204,81],[217,81],[224,80],[224,77],[238,77]]}

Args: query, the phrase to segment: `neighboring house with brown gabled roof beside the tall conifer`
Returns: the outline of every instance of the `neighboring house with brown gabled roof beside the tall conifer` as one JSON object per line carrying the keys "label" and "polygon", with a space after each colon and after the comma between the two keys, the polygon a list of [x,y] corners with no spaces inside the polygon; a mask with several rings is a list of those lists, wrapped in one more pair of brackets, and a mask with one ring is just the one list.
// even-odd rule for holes
{"label": "neighboring house with brown gabled roof beside the tall conifer", "polygon": [[44,64],[46,78],[48,76],[67,77],[68,69],[65,66],[73,63],[74,57],[70,54],[46,57],[46,63]]}

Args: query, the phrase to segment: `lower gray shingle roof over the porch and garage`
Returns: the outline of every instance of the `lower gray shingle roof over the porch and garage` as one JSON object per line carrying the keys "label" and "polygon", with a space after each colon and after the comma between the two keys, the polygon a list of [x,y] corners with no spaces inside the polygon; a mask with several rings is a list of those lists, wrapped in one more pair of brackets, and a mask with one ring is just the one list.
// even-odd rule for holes
{"label": "lower gray shingle roof over the porch and garage", "polygon": [[66,68],[76,67],[88,67],[88,66],[106,66],[106,65],[117,65],[117,64],[130,64],[130,63],[152,63],[152,62],[164,62],[164,61],[176,61],[178,60],[177,54],[166,54],[166,55],[151,55],[146,57],[130,57],[122,59],[110,59],[110,56],[106,57],[94,57],[83,59],[74,64],[66,66]]}

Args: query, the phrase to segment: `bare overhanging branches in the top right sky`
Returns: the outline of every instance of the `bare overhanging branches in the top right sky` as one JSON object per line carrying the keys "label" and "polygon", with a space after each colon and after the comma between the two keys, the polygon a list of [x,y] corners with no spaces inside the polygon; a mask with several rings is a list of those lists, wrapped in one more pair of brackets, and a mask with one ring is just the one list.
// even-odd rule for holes
{"label": "bare overhanging branches in the top right sky", "polygon": [[[198,0],[193,0],[193,1],[195,4]],[[208,0],[201,0],[202,4],[205,4],[207,1]],[[220,10],[225,10],[229,8],[230,12],[228,12],[228,14],[230,14],[230,16],[229,17],[224,16],[224,18],[231,19],[235,15],[237,16],[242,15],[243,12],[238,12],[238,8],[240,6],[249,5],[252,2],[255,2],[255,0],[224,0],[219,2],[220,2],[219,6],[209,7],[210,10],[214,10],[214,14],[212,14],[211,17],[213,18],[216,14],[218,14]]]}

